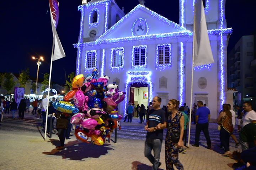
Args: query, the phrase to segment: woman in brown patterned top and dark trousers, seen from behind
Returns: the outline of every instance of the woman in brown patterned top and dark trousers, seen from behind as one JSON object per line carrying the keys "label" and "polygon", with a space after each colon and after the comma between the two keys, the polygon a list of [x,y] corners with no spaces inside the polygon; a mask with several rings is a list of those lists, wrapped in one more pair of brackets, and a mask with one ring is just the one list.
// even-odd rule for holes
{"label": "woman in brown patterned top and dark trousers, seen from behind", "polygon": [[225,148],[225,153],[222,156],[228,156],[231,154],[229,151],[229,137],[233,132],[232,115],[228,104],[223,104],[223,110],[220,112],[217,122],[220,125],[220,143]]}

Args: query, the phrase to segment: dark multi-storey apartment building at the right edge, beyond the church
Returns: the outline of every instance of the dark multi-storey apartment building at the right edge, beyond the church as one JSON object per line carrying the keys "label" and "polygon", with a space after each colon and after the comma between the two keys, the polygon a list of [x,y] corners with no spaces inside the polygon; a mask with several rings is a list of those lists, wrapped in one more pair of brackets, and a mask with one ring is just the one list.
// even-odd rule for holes
{"label": "dark multi-storey apartment building at the right edge, beyond the church", "polygon": [[241,106],[251,101],[255,108],[256,97],[255,35],[242,36],[228,54],[228,87],[238,92],[234,104]]}

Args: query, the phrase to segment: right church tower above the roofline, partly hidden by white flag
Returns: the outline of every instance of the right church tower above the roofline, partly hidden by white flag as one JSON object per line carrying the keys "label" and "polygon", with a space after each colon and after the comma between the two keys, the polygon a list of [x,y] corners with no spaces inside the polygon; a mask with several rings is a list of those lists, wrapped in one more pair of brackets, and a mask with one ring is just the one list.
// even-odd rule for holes
{"label": "right church tower above the roofline, partly hidden by white flag", "polygon": [[[193,31],[195,1],[180,0],[180,25],[191,31]],[[225,2],[226,0],[203,0],[208,30],[226,28]]]}

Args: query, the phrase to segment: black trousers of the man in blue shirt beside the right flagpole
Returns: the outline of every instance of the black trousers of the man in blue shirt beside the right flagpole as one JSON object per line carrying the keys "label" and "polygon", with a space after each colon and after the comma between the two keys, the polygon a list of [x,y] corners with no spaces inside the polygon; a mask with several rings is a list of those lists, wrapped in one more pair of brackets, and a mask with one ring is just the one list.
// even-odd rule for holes
{"label": "black trousers of the man in blue shirt beside the right flagpole", "polygon": [[210,141],[210,135],[208,131],[209,123],[203,123],[203,124],[196,124],[196,139],[195,139],[195,145],[199,145],[199,139],[200,139],[200,133],[203,131],[204,136],[206,137],[207,146],[211,147],[212,143]]}

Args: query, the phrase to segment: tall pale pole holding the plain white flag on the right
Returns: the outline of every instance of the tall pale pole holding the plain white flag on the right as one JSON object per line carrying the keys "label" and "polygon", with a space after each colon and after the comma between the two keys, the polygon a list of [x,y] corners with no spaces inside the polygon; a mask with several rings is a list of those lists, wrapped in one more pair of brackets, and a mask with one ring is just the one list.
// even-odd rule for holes
{"label": "tall pale pole holding the plain white flag on the right", "polygon": [[[196,8],[194,9],[194,13],[196,13]],[[194,14],[194,21],[195,21],[195,17],[196,15]],[[189,125],[188,125],[188,147],[190,147],[190,130],[191,130],[191,113],[192,113],[192,96],[193,96],[193,77],[194,77],[194,41],[195,41],[195,36],[194,36],[194,32],[195,32],[195,22],[193,24],[193,53],[192,53],[192,76],[191,76],[191,94],[190,94],[190,118],[189,118]]]}

